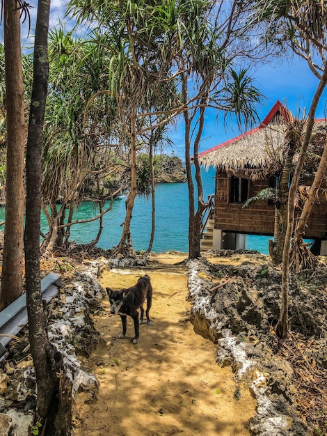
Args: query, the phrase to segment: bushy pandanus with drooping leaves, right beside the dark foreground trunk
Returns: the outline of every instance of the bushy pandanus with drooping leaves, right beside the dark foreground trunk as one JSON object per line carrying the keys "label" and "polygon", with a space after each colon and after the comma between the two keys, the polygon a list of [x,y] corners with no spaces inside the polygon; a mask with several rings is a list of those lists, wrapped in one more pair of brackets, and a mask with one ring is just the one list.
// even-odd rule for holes
{"label": "bushy pandanus with drooping leaves, right beside the dark foreground trunk", "polygon": [[[50,33],[49,97],[45,118],[43,148],[42,208],[49,224],[49,233],[42,243],[44,255],[54,249],[66,249],[70,228],[74,224],[99,219],[99,231],[90,244],[96,244],[102,231],[102,217],[112,207],[116,192],[103,194],[99,180],[115,171],[113,153],[106,148],[112,137],[115,104],[110,99],[97,99],[84,115],[92,93],[102,88],[104,45],[95,33],[93,40],[74,40],[60,27]],[[92,198],[83,182],[93,180],[98,186]],[[107,199],[111,203],[104,207]],[[60,201],[60,205],[58,205]],[[93,201],[98,211],[88,219],[74,219],[81,201]]]}

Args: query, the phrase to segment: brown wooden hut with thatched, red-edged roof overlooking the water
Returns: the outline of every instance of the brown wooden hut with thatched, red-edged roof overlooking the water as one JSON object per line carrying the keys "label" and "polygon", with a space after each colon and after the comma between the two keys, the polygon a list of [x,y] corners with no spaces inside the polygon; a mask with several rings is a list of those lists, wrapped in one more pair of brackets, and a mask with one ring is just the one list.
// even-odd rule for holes
{"label": "brown wooden hut with thatched, red-edged roof overlooking the water", "polygon": [[[258,127],[200,153],[200,164],[216,169],[212,245],[203,244],[203,249],[244,249],[247,234],[273,236],[274,203],[261,200],[243,206],[262,189],[276,186],[290,120],[292,114],[277,101]],[[326,132],[326,120],[316,120],[315,125]],[[324,147],[326,133],[320,138]],[[313,176],[312,171],[301,184],[310,185]],[[314,205],[305,238],[317,241],[318,254],[327,254],[326,198]]]}

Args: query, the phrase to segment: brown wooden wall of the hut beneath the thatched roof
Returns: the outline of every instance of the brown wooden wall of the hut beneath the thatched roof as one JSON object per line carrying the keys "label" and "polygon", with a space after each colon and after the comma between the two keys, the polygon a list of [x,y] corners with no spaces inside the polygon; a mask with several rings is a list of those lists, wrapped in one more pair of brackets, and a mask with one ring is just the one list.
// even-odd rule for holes
{"label": "brown wooden wall of the hut beneath the thatched roof", "polygon": [[[249,196],[255,196],[265,187],[268,180],[249,180]],[[275,206],[267,200],[257,201],[243,208],[243,203],[229,203],[227,173],[216,173],[216,205],[214,228],[223,231],[273,235]],[[296,216],[300,211],[296,212]],[[327,203],[314,205],[308,221],[305,238],[327,238]]]}

